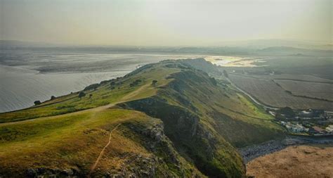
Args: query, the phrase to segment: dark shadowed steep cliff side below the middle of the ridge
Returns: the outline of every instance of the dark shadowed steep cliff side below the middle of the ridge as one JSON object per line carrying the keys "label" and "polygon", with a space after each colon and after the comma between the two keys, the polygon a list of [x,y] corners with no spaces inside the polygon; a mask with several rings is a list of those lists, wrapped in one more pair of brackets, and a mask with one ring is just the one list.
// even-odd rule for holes
{"label": "dark shadowed steep cliff side below the middle of the ridge", "polygon": [[[165,125],[164,132],[176,151],[203,174],[209,177],[241,177],[244,174],[244,165],[235,148],[217,132],[203,125],[200,115],[192,110],[171,105],[158,96],[119,106],[161,119]],[[228,152],[228,155],[223,155],[221,150]]]}

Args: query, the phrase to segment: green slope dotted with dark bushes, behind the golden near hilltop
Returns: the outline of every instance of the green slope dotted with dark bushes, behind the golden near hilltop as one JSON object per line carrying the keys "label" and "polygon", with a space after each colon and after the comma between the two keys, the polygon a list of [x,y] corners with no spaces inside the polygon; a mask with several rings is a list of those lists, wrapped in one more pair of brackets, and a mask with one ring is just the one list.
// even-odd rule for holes
{"label": "green slope dotted with dark bushes, behind the golden near hilltop", "polygon": [[[110,85],[111,81],[100,84],[96,90],[84,91],[86,93],[86,97],[83,98],[79,98],[79,92],[77,92],[67,96],[60,96],[56,98],[55,101],[46,101],[42,103],[41,106],[34,106],[32,108],[18,110],[15,112],[0,113],[0,123],[29,120],[37,117],[47,117],[52,115],[63,115],[65,113],[73,113],[79,110],[105,106],[110,103],[152,96],[156,92],[155,87],[150,85],[152,80],[155,78],[160,79],[158,85],[162,86],[163,84],[169,82],[169,80],[164,79],[164,76],[178,71],[166,70],[165,68],[158,68],[157,66],[152,70],[156,70],[154,75],[150,75],[150,73],[148,74],[148,71],[143,71],[140,75],[136,76],[133,76],[133,74],[130,73],[125,77],[112,80],[112,82],[115,82],[114,85]],[[142,82],[134,87],[130,87],[130,84],[138,79],[142,80]],[[137,91],[145,84],[145,89]],[[112,89],[112,87],[114,88]],[[89,94],[92,94],[91,98],[89,97]]]}

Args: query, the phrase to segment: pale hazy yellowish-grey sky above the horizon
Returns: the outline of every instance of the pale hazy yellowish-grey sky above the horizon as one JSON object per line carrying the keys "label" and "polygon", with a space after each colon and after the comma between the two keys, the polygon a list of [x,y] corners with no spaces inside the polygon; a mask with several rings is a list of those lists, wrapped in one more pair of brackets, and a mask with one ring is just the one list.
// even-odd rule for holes
{"label": "pale hazy yellowish-grey sky above the horizon", "polygon": [[332,43],[332,0],[0,0],[1,39],[62,44]]}

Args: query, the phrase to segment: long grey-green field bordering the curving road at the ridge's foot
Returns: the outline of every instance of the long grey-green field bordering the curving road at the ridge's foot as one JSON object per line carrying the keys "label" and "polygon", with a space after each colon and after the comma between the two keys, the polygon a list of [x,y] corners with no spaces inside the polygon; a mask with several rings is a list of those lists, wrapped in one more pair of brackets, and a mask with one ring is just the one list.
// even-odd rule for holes
{"label": "long grey-green field bordering the curving road at the ridge's foot", "polygon": [[294,109],[317,108],[333,110],[332,102],[293,96],[270,79],[259,79],[232,74],[229,75],[229,77],[230,80],[237,85],[237,87],[247,91],[247,93],[251,94],[268,106],[289,106]]}

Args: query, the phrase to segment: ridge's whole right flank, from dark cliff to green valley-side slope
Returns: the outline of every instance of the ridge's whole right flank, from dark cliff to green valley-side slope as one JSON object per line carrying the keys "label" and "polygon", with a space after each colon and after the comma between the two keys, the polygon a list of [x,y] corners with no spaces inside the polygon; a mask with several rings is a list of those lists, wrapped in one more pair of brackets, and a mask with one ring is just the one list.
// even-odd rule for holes
{"label": "ridge's whole right flank, from dark cliff to green valley-side slope", "polygon": [[159,89],[157,96],[120,106],[160,118],[176,148],[204,174],[241,177],[242,160],[229,143],[247,146],[282,136],[270,115],[232,89],[223,89],[207,73],[186,63],[164,63],[183,70],[171,74],[174,80]]}

